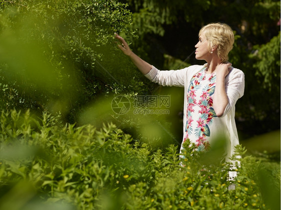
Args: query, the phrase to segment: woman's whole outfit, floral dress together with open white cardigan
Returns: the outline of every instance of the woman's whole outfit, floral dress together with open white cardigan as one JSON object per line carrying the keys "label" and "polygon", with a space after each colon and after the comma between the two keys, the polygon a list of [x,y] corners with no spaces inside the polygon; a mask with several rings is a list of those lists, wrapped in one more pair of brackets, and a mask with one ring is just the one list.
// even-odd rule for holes
{"label": "woman's whole outfit, floral dress together with open white cardigan", "polygon": [[[166,71],[160,71],[152,66],[145,77],[162,86],[184,87],[182,143],[188,138],[191,143],[197,145],[197,150],[205,150],[209,146],[212,147],[215,141],[224,139],[225,160],[229,161],[235,154],[235,146],[239,145],[234,116],[236,101],[244,93],[244,73],[232,68],[225,77],[228,104],[223,115],[216,117],[212,108],[216,75],[205,74],[206,66],[207,64],[191,65],[183,69]],[[181,144],[180,151],[183,149]]]}

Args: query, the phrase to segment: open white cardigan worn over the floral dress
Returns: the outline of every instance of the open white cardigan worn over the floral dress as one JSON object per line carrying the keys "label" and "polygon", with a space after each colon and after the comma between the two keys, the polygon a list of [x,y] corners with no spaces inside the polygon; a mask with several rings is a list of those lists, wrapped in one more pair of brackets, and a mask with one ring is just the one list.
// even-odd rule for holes
{"label": "open white cardigan worn over the floral dress", "polygon": [[[177,86],[184,87],[184,108],[183,108],[183,137],[184,137],[184,126],[186,122],[186,95],[189,87],[190,80],[193,75],[198,73],[204,65],[192,65],[187,68],[179,70],[167,70],[160,71],[154,66],[152,69],[145,74],[154,83],[158,83],[162,86]],[[243,96],[244,93],[244,73],[236,68],[231,68],[229,74],[225,77],[225,92],[228,98],[228,104],[224,110],[221,118],[225,120],[225,125],[228,130],[230,145],[227,149],[227,159],[234,154],[234,147],[239,144],[237,129],[235,125],[235,103],[238,98]]]}

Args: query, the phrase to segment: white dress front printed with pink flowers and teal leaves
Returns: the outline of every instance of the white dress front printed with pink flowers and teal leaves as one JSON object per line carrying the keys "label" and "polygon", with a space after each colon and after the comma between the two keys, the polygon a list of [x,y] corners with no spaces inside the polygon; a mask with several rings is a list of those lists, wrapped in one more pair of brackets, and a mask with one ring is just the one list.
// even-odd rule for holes
{"label": "white dress front printed with pink flowers and teal leaves", "polygon": [[198,151],[208,150],[209,136],[216,114],[212,108],[215,73],[206,74],[205,68],[195,74],[187,91],[187,110],[183,142],[189,139]]}

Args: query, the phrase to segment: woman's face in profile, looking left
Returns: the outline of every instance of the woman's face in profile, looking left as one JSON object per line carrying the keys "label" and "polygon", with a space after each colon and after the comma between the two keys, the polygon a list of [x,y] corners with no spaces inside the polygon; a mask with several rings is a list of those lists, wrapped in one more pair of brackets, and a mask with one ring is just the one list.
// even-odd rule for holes
{"label": "woman's face in profile, looking left", "polygon": [[202,33],[199,36],[199,41],[198,43],[195,45],[195,58],[197,60],[209,60],[209,58],[211,57],[211,53],[209,52],[209,44],[208,41],[204,35],[204,33]]}

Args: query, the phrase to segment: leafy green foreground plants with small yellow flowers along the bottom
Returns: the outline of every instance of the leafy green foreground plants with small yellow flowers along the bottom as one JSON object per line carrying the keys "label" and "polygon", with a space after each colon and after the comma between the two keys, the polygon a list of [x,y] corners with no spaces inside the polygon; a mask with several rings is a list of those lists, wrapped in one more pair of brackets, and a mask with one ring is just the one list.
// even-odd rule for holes
{"label": "leafy green foreground plants with small yellow flowers along the bottom", "polygon": [[[0,123],[0,209],[274,210],[278,205],[278,178],[250,156],[239,159],[231,181],[231,164],[220,164],[219,150],[204,154],[186,147],[180,166],[174,145],[152,150],[113,124],[100,130],[63,126],[45,113],[38,118],[14,110],[2,112]],[[244,153],[236,148],[236,155]],[[230,185],[235,190],[228,190]]]}

